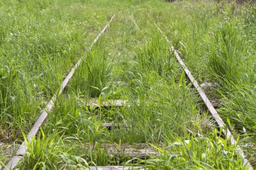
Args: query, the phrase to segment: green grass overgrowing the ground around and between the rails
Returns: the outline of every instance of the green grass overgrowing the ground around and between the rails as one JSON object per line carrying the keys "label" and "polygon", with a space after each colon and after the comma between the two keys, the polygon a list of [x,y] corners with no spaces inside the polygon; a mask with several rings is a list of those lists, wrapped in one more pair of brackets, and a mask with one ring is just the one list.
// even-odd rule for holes
{"label": "green grass overgrowing the ground around and between the rails", "polygon": [[[216,84],[210,97],[217,97],[220,116],[255,165],[255,5],[11,0],[0,9],[1,142],[23,140],[84,56],[18,169],[247,169],[236,146],[219,136],[154,22],[199,83]],[[86,52],[113,13],[110,28]],[[98,108],[86,106],[90,97]],[[128,103],[103,107],[109,99]],[[108,122],[120,126],[108,130],[102,126]],[[158,154],[149,160],[122,155],[123,144],[133,143],[150,144]],[[121,156],[108,154],[106,144]],[[0,163],[11,155],[0,149]]]}

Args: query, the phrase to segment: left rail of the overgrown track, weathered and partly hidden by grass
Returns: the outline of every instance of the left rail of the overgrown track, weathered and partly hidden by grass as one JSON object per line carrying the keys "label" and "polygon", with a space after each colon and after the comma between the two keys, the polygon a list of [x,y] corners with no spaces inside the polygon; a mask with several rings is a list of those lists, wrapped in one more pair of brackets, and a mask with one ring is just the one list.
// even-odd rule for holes
{"label": "left rail of the overgrown track, weathered and partly hidden by grass", "polygon": [[[98,34],[98,36],[96,36],[96,38],[94,39],[94,41],[92,42],[92,44],[90,45],[90,47],[86,50],[86,52],[89,52],[90,50],[92,50],[92,47],[94,46],[94,44],[96,44],[96,42],[98,41],[98,39],[100,38],[100,36],[102,36],[102,34],[106,31],[106,28],[108,28],[108,26],[110,25],[110,23],[112,22],[113,18],[115,17],[115,15],[113,15],[110,20],[108,21],[108,23],[106,24],[106,26],[104,26],[104,28],[101,30],[100,34]],[[69,80],[73,77],[73,74],[75,73],[75,70],[77,69],[77,67],[79,67],[79,65],[82,62],[82,59],[84,58],[84,56],[82,56],[81,58],[79,58],[79,60],[77,61],[77,63],[75,64],[75,66],[71,69],[71,71],[69,72],[69,74],[67,75],[67,77],[64,79],[64,81],[61,83],[61,88],[55,93],[55,95],[53,95],[53,97],[51,98],[51,100],[49,101],[49,103],[47,103],[46,107],[44,108],[44,110],[41,111],[40,116],[38,117],[38,120],[36,120],[36,122],[34,123],[34,126],[32,127],[32,129],[30,130],[30,132],[28,133],[27,139],[24,140],[24,142],[22,143],[22,145],[20,146],[20,148],[18,148],[17,153],[15,154],[14,157],[12,157],[9,162],[7,163],[6,167],[4,170],[7,169],[14,169],[14,167],[16,165],[18,165],[19,161],[22,159],[22,157],[24,156],[24,154],[26,153],[27,150],[27,146],[26,146],[26,142],[31,142],[32,138],[34,136],[36,136],[40,126],[42,126],[42,123],[44,122],[44,120],[46,119],[46,117],[48,116],[48,113],[53,112],[53,108],[54,108],[54,103],[57,99],[57,95],[61,95],[61,93],[63,93],[63,90],[65,89],[65,87],[67,86],[67,83],[69,83]]]}

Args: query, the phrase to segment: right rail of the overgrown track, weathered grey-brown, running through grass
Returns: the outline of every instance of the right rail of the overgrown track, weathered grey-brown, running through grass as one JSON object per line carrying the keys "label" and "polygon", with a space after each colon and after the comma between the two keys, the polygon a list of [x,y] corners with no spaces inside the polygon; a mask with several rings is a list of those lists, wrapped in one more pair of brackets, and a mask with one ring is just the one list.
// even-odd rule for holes
{"label": "right rail of the overgrown track, weathered grey-brown, running through grass", "polygon": [[[168,42],[168,44],[170,45],[169,46],[170,51],[172,51],[174,53],[174,56],[177,58],[179,64],[183,67],[183,70],[185,71],[187,77],[189,77],[189,80],[191,81],[191,83],[193,83],[193,86],[195,87],[195,89],[197,89],[197,92],[199,93],[201,99],[203,99],[203,102],[205,103],[206,107],[208,108],[210,114],[212,115],[212,117],[214,118],[214,120],[216,121],[218,126],[220,128],[222,128],[222,134],[224,134],[224,136],[226,136],[226,138],[230,139],[231,144],[236,145],[236,140],[234,139],[234,136],[231,134],[230,130],[228,130],[228,128],[224,124],[222,118],[220,118],[220,115],[216,112],[211,101],[205,95],[203,89],[201,89],[201,87],[199,86],[199,84],[197,83],[197,81],[195,80],[195,78],[193,77],[191,72],[189,71],[189,69],[187,69],[187,66],[185,65],[185,63],[183,62],[181,57],[179,56],[179,53],[177,52],[177,50],[175,50],[175,48],[172,46],[172,43],[170,42],[170,40],[168,40],[167,36],[156,25],[156,23],[155,23],[155,26],[158,29],[158,31],[162,34],[162,36],[164,36],[164,38],[166,39],[166,42]],[[248,159],[246,158],[245,153],[243,152],[243,149],[238,145],[236,145],[236,153],[238,153],[239,155],[241,155],[241,157],[243,157],[243,165],[247,166],[250,170],[253,170],[253,167],[251,166]]]}

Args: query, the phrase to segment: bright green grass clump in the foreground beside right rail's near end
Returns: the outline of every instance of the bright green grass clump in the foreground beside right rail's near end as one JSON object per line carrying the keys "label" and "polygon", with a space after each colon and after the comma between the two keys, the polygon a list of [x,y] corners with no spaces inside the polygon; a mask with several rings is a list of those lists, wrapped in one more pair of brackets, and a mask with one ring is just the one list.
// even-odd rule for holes
{"label": "bright green grass clump in the foreground beside right rail's near end", "polygon": [[[197,138],[174,137],[164,148],[154,146],[159,155],[145,161],[152,169],[247,169],[236,161],[235,147],[218,136],[217,130]],[[174,142],[175,141],[175,142]],[[144,161],[142,161],[144,162]]]}

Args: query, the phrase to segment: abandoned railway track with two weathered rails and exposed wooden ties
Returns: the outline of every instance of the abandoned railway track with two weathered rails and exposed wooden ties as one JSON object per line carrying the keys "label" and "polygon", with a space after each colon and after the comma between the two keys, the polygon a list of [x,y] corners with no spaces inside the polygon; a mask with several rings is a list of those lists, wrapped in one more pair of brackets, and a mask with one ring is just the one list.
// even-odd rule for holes
{"label": "abandoned railway track with two weathered rails and exposed wooden ties", "polygon": [[[98,41],[100,36],[102,36],[102,34],[106,31],[106,29],[108,28],[110,23],[113,21],[114,17],[115,17],[115,15],[113,15],[113,17],[111,17],[111,19],[108,22],[108,24],[106,24],[106,26],[102,29],[100,34],[98,34],[98,36],[94,39],[94,41],[92,42],[90,48],[88,48],[87,52],[92,50],[94,44],[96,44],[96,42]],[[177,50],[174,49],[174,47],[172,46],[170,40],[168,40],[168,38],[166,37],[164,32],[162,32],[162,30],[160,30],[160,28],[156,24],[155,24],[155,26],[159,30],[159,32],[162,34],[162,36],[164,36],[166,41],[168,42],[170,51],[174,53],[174,56],[176,56],[179,64],[183,67],[183,70],[185,71],[187,77],[189,78],[191,83],[193,83],[193,86],[195,87],[195,89],[197,89],[197,92],[199,93],[201,99],[203,100],[203,102],[207,106],[207,109],[209,110],[210,114],[212,114],[212,118],[214,118],[214,120],[215,120],[216,124],[218,125],[218,127],[220,127],[222,129],[222,134],[226,138],[230,139],[231,144],[236,145],[236,140],[232,136],[230,130],[228,130],[228,128],[224,124],[222,118],[220,118],[220,116],[218,115],[218,113],[214,109],[214,106],[212,105],[210,100],[207,98],[207,96],[203,92],[203,89],[201,89],[201,87],[199,86],[199,84],[197,83],[197,81],[195,80],[195,78],[193,77],[191,72],[189,71],[189,69],[186,67],[185,63],[183,62],[183,60],[179,56],[179,53],[177,52]],[[46,120],[46,117],[48,116],[48,114],[50,112],[53,112],[54,103],[57,100],[57,96],[61,95],[61,93],[63,93],[63,90],[67,86],[67,83],[69,83],[69,80],[73,77],[73,75],[75,73],[75,70],[81,64],[82,59],[83,58],[80,58],[77,61],[77,63],[73,67],[73,69],[71,69],[71,71],[69,72],[67,77],[64,79],[63,83],[61,84],[61,88],[59,89],[59,91],[57,91],[57,93],[55,93],[55,95],[52,97],[52,99],[46,105],[46,108],[44,108],[44,110],[42,110],[42,112],[40,113],[40,116],[39,116],[38,120],[36,121],[36,123],[32,127],[32,130],[30,130],[30,132],[29,132],[29,134],[27,136],[28,142],[31,142],[32,138],[34,136],[36,136],[40,126],[42,125],[44,120]],[[86,106],[87,107],[90,107],[90,106],[98,107],[99,104],[96,101],[98,101],[98,99],[92,99],[91,101],[88,101],[88,103],[86,103]],[[135,103],[137,103],[139,105],[138,101],[135,101]],[[108,102],[100,103],[100,107],[123,107],[125,105],[129,105],[129,101],[127,101],[127,100],[110,100]],[[112,124],[112,123],[104,123],[104,124],[102,124],[102,126],[105,126],[109,130],[111,130],[111,128],[118,128],[119,126],[122,126],[122,125],[120,125],[120,124]],[[111,148],[113,146],[107,146],[107,147]],[[128,155],[129,157],[135,157],[135,158],[137,157],[137,158],[140,158],[140,159],[148,159],[150,157],[150,155],[156,155],[157,154],[156,151],[151,150],[151,148],[146,148],[146,146],[143,146],[142,149],[135,148],[134,150],[131,150],[131,148],[133,148],[133,147],[134,146],[128,146],[127,148],[125,148],[125,146],[124,146],[123,147],[123,148],[125,148],[124,149],[124,151],[125,151],[124,154]],[[22,145],[20,146],[20,148],[18,148],[18,151],[15,154],[15,156],[12,157],[11,160],[7,163],[7,166],[5,167],[5,169],[14,169],[16,167],[16,165],[18,165],[18,163],[22,159],[22,157],[24,157],[24,154],[26,153],[26,150],[27,150],[26,141],[24,141],[22,143]],[[113,149],[113,152],[112,153],[108,153],[108,154],[119,153],[119,152],[120,151]],[[253,169],[253,167],[251,167],[249,161],[246,159],[246,156],[243,153],[243,150],[239,146],[236,146],[236,152],[239,155],[241,155],[241,157],[243,157],[243,159],[244,159],[244,163],[243,164],[246,167],[248,167],[250,170]],[[137,167],[129,167],[129,166],[104,166],[104,167],[88,167],[88,169],[99,169],[99,170],[103,170],[103,169],[113,169],[113,170],[116,170],[116,169],[145,169],[145,167],[143,167],[143,166],[137,166]]]}

